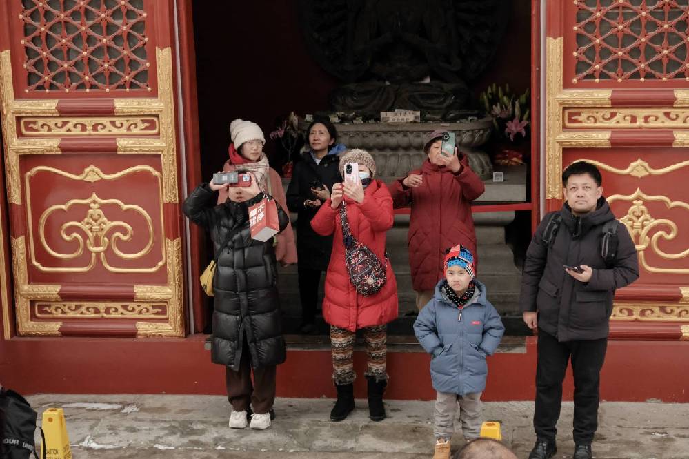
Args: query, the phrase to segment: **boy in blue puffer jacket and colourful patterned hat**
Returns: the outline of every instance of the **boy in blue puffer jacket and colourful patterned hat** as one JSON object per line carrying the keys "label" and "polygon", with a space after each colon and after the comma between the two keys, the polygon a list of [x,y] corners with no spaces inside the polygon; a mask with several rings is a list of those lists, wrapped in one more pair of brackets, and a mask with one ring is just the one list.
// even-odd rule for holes
{"label": "boy in blue puffer jacket and colourful patterned hat", "polygon": [[466,441],[481,433],[481,393],[486,387],[486,356],[495,352],[505,332],[486,286],[474,278],[474,257],[455,245],[445,257],[445,278],[421,309],[414,332],[432,354],[430,376],[436,390],[434,459],[450,458],[455,415]]}

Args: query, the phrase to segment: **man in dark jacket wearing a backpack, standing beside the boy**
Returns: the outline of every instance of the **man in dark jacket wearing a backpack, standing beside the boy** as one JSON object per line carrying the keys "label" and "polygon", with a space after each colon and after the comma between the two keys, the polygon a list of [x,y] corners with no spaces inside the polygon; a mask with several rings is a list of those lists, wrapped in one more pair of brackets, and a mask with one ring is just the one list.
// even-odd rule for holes
{"label": "man in dark jacket wearing a backpack, standing beside the boy", "polygon": [[601,173],[572,163],[562,173],[566,203],[547,214],[526,252],[521,310],[538,333],[534,429],[529,459],[557,451],[555,424],[568,360],[574,375],[575,459],[592,457],[598,427],[600,371],[608,345],[615,290],[639,277],[637,252],[625,225],[603,198]]}

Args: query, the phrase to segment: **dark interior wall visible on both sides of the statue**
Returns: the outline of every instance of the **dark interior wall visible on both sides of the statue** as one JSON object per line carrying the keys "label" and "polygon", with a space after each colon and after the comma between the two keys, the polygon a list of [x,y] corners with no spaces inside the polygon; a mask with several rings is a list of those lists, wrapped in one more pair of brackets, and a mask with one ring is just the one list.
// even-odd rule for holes
{"label": "dark interior wall visible on both sides of the statue", "polygon": [[[293,1],[194,1],[194,40],[203,177],[227,159],[230,121],[274,130],[275,118],[327,110],[328,93],[339,81],[306,50]],[[503,46],[472,89],[530,84],[530,0],[512,0]],[[266,152],[274,147],[268,143]]]}

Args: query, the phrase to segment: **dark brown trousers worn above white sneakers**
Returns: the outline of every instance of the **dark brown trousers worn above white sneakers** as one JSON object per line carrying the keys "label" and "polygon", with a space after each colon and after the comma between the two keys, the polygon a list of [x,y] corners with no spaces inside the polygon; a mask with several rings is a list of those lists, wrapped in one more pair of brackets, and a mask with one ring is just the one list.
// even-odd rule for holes
{"label": "dark brown trousers worn above white sneakers", "polygon": [[[254,373],[253,384],[251,373]],[[228,389],[228,400],[234,411],[246,411],[251,404],[254,413],[266,414],[275,402],[276,365],[251,367],[251,356],[246,341],[241,351],[239,371],[225,367],[225,385]]]}

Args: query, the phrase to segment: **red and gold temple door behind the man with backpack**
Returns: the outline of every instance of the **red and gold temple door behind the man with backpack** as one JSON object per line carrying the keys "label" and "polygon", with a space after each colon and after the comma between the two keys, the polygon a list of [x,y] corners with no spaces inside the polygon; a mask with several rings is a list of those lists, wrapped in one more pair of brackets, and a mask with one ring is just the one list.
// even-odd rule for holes
{"label": "red and gold temple door behind the man with backpack", "polygon": [[612,336],[689,339],[688,0],[546,3],[546,205],[595,163],[639,253]]}

